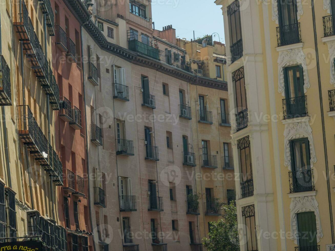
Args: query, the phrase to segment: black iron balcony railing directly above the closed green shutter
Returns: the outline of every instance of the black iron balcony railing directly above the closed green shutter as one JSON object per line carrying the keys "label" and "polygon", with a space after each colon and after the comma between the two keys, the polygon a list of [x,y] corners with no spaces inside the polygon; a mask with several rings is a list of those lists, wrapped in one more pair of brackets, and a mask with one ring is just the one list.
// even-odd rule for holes
{"label": "black iron balcony railing directly above the closed green shutter", "polygon": [[314,191],[313,170],[302,170],[288,172],[290,182],[290,193]]}

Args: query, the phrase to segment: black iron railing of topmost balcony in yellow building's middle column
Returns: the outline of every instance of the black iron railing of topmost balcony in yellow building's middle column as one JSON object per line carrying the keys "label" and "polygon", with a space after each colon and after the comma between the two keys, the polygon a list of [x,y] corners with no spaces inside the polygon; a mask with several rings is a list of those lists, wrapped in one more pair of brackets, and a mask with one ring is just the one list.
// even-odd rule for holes
{"label": "black iron railing of topmost balcony in yellow building's middle column", "polygon": [[300,23],[292,23],[277,27],[277,43],[279,46],[301,42]]}

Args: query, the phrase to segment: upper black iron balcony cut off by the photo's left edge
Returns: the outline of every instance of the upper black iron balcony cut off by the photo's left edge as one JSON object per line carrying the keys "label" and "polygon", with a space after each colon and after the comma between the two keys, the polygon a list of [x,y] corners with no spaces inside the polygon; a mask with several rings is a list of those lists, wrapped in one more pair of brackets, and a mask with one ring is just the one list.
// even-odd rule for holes
{"label": "upper black iron balcony cut off by the photo's left edge", "polygon": [[2,55],[0,55],[0,105],[12,105],[10,69]]}

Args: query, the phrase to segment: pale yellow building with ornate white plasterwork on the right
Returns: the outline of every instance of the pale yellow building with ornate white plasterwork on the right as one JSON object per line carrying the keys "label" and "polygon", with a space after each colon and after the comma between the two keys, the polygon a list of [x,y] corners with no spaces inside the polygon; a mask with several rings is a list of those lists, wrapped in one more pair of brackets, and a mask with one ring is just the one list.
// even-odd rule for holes
{"label": "pale yellow building with ornate white plasterwork on the right", "polygon": [[331,250],[331,1],[222,6],[241,250]]}

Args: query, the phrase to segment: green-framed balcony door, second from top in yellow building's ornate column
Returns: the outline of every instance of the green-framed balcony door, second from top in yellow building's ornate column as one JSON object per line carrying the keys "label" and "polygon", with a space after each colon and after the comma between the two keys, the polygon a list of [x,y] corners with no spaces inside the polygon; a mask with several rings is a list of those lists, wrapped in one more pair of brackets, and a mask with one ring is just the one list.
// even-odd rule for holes
{"label": "green-framed balcony door, second from top in yellow building's ornate column", "polygon": [[306,114],[304,73],[302,66],[286,67],[284,69],[284,80],[287,115]]}

